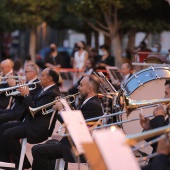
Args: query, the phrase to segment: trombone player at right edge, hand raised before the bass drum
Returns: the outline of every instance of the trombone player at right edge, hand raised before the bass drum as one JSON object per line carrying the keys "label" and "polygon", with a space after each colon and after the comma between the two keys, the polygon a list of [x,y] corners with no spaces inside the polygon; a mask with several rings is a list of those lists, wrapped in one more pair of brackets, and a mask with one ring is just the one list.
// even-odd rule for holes
{"label": "trombone player at right edge, hand raised before the bass drum", "polygon": [[[165,82],[165,97],[164,98],[170,98],[170,80],[166,80]],[[165,125],[169,124],[169,117],[166,119],[166,115],[169,113],[167,113],[163,106],[158,106],[154,111],[154,118],[153,119],[148,119],[148,118],[144,118],[141,114],[140,114],[140,124],[143,127],[144,130],[149,130],[149,129],[155,129],[158,127],[162,127]],[[156,152],[156,148],[157,148],[157,144],[153,144],[153,152]]]}

